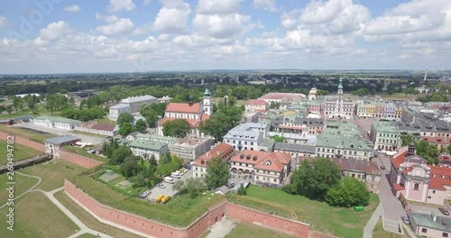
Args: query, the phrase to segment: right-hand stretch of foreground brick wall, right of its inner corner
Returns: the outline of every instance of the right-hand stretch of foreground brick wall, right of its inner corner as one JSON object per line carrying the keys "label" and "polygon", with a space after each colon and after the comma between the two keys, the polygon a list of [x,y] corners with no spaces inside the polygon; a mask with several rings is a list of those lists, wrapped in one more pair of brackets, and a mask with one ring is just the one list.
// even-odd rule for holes
{"label": "right-hand stretch of foreground brick wall, right of its inner corner", "polygon": [[298,237],[308,237],[309,225],[292,221],[275,215],[265,214],[253,209],[227,204],[227,215],[245,223],[261,224],[283,233],[292,233]]}

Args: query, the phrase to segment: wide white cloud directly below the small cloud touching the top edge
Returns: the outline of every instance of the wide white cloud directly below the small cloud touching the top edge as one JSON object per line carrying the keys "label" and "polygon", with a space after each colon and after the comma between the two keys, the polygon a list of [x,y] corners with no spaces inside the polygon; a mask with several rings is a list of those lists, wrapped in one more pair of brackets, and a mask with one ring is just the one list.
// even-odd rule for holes
{"label": "wide white cloud directly below the small cloud touching the top edge", "polygon": [[219,39],[234,37],[253,28],[251,16],[242,14],[197,14],[193,25],[197,32]]}

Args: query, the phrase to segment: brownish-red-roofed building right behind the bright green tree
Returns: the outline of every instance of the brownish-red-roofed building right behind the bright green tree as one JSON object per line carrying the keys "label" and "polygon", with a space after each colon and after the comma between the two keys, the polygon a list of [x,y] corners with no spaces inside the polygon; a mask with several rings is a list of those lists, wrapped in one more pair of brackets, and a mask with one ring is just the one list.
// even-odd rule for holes
{"label": "brownish-red-roofed building right behind the bright green tree", "polygon": [[366,188],[372,193],[379,193],[381,184],[381,170],[377,164],[364,160],[344,160],[332,159],[338,167],[340,167],[342,176],[349,176],[356,178],[365,183]]}

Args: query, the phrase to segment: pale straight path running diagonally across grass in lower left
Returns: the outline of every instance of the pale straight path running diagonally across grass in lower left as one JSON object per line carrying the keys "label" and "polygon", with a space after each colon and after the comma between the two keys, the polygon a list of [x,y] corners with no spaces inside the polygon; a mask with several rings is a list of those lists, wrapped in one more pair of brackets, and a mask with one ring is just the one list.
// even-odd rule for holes
{"label": "pale straight path running diagonally across grass in lower left", "polygon": [[53,197],[53,195],[56,192],[61,191],[62,189],[64,189],[64,187],[61,188],[56,188],[54,190],[51,190],[50,192],[46,192],[46,191],[42,191],[41,189],[37,189],[37,190],[33,190],[36,192],[41,192],[43,193],[45,196],[47,196],[51,202],[58,206],[58,208],[60,208],[60,210],[69,217],[70,220],[72,220],[72,222],[74,222],[75,224],[78,225],[78,227],[80,228],[80,230],[78,231],[78,233],[74,233],[72,235],[69,236],[69,238],[75,238],[78,237],[79,235],[83,234],[83,233],[90,233],[93,235],[97,235],[97,237],[106,237],[106,238],[113,238],[112,236],[107,235],[106,233],[100,233],[97,232],[95,230],[90,229],[89,227],[86,226],[86,224],[82,223],[77,216],[75,216],[74,214],[72,214],[68,208],[66,208],[66,206],[63,206],[60,201],[58,201],[57,198]]}

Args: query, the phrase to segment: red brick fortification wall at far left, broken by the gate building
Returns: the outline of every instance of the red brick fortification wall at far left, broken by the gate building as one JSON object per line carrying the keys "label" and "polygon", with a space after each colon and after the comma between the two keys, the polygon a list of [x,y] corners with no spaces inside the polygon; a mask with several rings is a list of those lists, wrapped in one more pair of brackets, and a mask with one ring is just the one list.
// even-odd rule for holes
{"label": "red brick fortification wall at far left, broken by the gate building", "polygon": [[[7,140],[7,133],[0,133],[0,140],[6,141]],[[37,151],[45,152],[45,145],[41,144],[39,142],[32,142],[28,140],[27,138],[23,138],[17,135],[14,135],[14,143],[22,144],[24,146],[30,147]],[[102,162],[99,162],[97,160],[91,160],[86,157],[83,157],[78,154],[71,153],[69,151],[60,151],[60,159],[67,160],[71,163],[75,163],[78,166],[90,169],[93,167],[96,167],[97,165],[101,164]]]}

